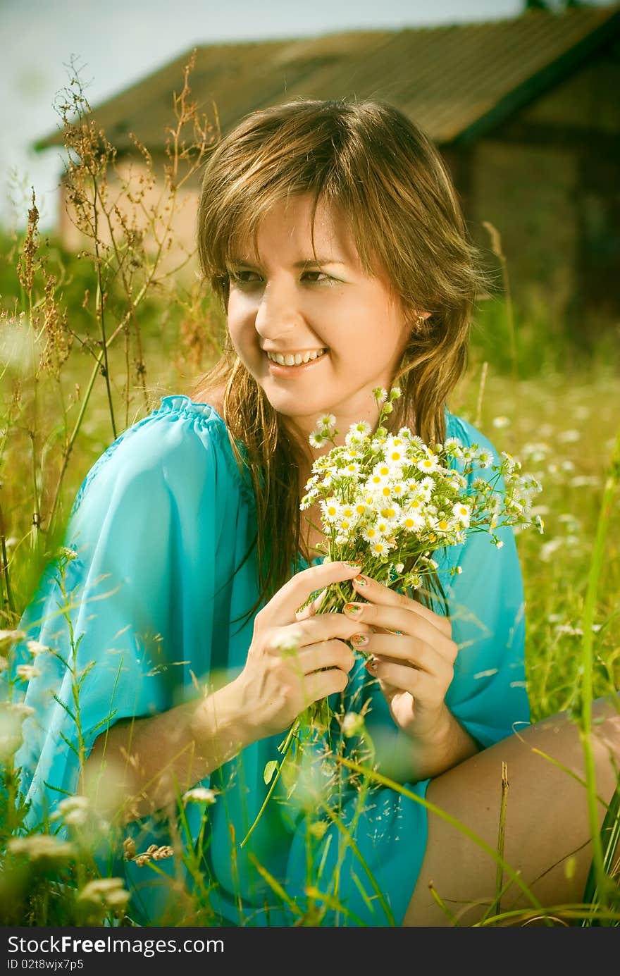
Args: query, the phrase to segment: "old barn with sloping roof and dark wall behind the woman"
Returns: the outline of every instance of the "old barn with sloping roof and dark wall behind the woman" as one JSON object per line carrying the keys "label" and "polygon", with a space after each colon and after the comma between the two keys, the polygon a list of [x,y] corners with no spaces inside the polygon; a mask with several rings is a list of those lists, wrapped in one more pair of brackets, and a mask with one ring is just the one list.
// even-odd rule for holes
{"label": "old barn with sloping roof and dark wall behind the woman", "polygon": [[[93,115],[119,155],[135,133],[163,161],[190,56]],[[521,310],[545,305],[573,333],[620,321],[620,4],[530,10],[494,20],[303,39],[213,44],[196,51],[191,96],[215,106],[222,132],[255,108],[307,97],[391,102],[434,141],[475,242],[498,267],[495,227]],[[37,142],[62,143],[62,132]],[[192,247],[198,181],[174,227]],[[79,240],[60,205],[60,231]]]}

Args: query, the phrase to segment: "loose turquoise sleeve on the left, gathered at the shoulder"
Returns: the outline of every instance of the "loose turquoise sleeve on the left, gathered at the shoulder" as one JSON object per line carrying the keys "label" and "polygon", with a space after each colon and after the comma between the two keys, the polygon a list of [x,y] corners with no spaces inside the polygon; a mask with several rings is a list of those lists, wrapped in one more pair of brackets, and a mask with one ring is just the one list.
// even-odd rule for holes
{"label": "loose turquoise sleeve on the left, gathered at the shoulder", "polygon": [[16,671],[33,663],[27,640],[49,648],[27,683],[33,712],[16,755],[27,829],[46,830],[59,801],[80,793],[84,760],[109,726],[193,698],[214,668],[227,667],[225,584],[247,507],[224,422],[186,402],[165,397],[95,464],[75,499],[65,554],[23,614]]}

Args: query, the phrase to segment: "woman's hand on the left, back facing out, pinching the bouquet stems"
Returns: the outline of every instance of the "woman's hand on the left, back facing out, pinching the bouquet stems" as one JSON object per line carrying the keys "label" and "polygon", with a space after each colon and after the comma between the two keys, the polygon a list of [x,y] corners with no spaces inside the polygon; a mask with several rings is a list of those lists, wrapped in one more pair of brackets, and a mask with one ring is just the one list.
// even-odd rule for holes
{"label": "woman's hand on the left, back facing out, pinching the bouquet stems", "polygon": [[[256,615],[243,671],[227,687],[254,741],[283,732],[313,702],[344,691],[355,656],[348,641],[370,627],[344,614],[313,612],[310,594],[351,580],[359,567],[346,562],[297,573]],[[228,696],[229,697],[229,696]]]}

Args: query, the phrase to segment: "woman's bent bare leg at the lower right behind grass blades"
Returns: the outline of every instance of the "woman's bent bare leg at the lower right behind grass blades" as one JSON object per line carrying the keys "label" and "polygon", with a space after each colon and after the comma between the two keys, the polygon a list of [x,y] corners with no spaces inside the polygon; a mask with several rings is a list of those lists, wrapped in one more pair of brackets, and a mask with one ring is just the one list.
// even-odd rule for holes
{"label": "woman's bent bare leg at the lower right behind grass blades", "polygon": [[[599,825],[620,766],[619,710],[620,702],[610,699],[600,699],[593,709]],[[592,857],[591,831],[586,789],[566,769],[583,781],[584,752],[576,724],[564,713],[543,719],[443,773],[429,785],[427,799],[496,851],[503,762],[509,782],[504,860],[543,905],[581,902]],[[567,871],[568,858],[575,859],[572,872]],[[474,924],[495,898],[496,872],[496,862],[488,853],[430,812],[427,852],[403,925],[454,924],[437,906],[431,884],[461,924]],[[502,911],[530,906],[515,883],[502,897]]]}

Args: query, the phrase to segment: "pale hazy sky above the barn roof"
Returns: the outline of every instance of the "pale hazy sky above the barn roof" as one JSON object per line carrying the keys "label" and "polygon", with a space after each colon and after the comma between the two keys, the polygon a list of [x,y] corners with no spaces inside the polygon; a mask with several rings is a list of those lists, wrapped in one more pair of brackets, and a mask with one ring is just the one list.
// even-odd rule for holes
{"label": "pale hazy sky above the barn roof", "polygon": [[[612,2],[612,0],[608,0]],[[607,6],[592,0],[590,6]],[[22,226],[34,186],[55,224],[58,149],[30,145],[60,123],[71,58],[91,105],[194,46],[517,17],[524,0],[0,0],[0,224]]]}

